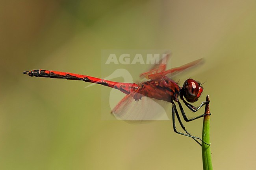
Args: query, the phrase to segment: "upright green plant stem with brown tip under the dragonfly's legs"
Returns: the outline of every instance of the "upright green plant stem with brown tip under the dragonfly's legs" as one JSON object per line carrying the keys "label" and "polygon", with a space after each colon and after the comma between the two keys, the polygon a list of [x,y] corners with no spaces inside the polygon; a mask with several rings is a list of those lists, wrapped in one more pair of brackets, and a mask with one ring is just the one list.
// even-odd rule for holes
{"label": "upright green plant stem with brown tip under the dragonfly's legs", "polygon": [[[206,101],[210,101],[209,95],[206,96]],[[206,103],[204,114],[210,113],[209,103]],[[210,144],[210,115],[204,116],[202,140],[205,143]],[[212,170],[211,164],[211,147],[207,144],[202,143],[202,159],[204,170]]]}

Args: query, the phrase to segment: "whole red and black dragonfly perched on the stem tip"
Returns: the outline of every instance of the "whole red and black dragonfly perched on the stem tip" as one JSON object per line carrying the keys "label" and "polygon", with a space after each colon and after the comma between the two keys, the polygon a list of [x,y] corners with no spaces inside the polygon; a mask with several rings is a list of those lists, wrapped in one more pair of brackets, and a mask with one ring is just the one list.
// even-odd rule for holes
{"label": "whole red and black dragonfly perched on the stem tip", "polygon": [[[113,108],[112,114],[120,117],[121,119],[129,119],[136,120],[136,116],[132,115],[131,112],[127,112],[129,110],[130,104],[132,102],[139,102],[143,98],[157,99],[163,100],[166,102],[172,103],[172,118],[173,118],[173,129],[174,132],[185,135],[193,138],[198,144],[201,145],[196,139],[200,140],[202,143],[205,143],[200,139],[200,137],[196,137],[187,132],[184,124],[182,123],[180,116],[178,114],[178,110],[176,108],[177,102],[182,113],[182,116],[186,122],[193,121],[200,117],[203,117],[205,114],[199,115],[197,117],[193,117],[189,119],[184,109],[182,108],[182,104],[179,101],[180,99],[184,102],[184,104],[193,112],[197,112],[199,108],[204,106],[207,102],[202,102],[200,106],[195,107],[188,102],[196,102],[198,98],[201,96],[203,88],[199,82],[193,79],[187,79],[183,86],[178,86],[178,83],[172,80],[170,77],[184,71],[188,68],[191,68],[195,65],[202,63],[202,58],[185,64],[183,66],[172,68],[166,70],[166,60],[168,60],[170,55],[166,55],[158,64],[155,64],[149,71],[142,73],[140,76],[148,79],[145,82],[141,83],[122,83],[122,82],[113,82],[109,80],[99,79],[96,77],[90,77],[87,75],[79,75],[74,73],[60,72],[60,71],[50,71],[43,69],[34,69],[31,71],[24,71],[24,74],[27,74],[31,77],[50,77],[55,79],[67,79],[67,80],[82,80],[85,82],[91,82],[96,84],[101,84],[103,86],[108,86],[119,91],[122,91],[126,94],[126,96]],[[165,62],[163,62],[165,61]],[[185,99],[186,100],[185,100]],[[133,106],[134,108],[134,106]],[[136,109],[136,108],[135,108]],[[143,114],[143,113],[141,113]],[[185,133],[178,132],[175,125],[175,115],[180,123],[180,126],[185,131]],[[141,119],[141,118],[140,118]],[[207,143],[205,143],[207,144]],[[208,144],[209,145],[209,144]]]}

